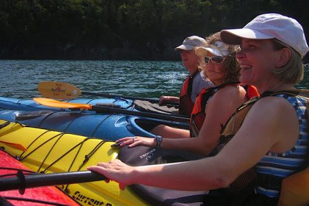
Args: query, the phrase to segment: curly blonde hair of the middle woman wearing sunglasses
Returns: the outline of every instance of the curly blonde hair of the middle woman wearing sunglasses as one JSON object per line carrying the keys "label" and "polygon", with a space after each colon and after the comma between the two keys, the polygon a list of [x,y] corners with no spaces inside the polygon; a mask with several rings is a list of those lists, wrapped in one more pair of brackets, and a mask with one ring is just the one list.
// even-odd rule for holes
{"label": "curly blonde hair of the middle woman wearing sunglasses", "polygon": [[[207,36],[205,38],[206,45],[205,47],[214,47],[214,43],[216,41],[222,41],[220,38],[220,32]],[[224,62],[222,63],[222,71],[225,72],[225,78],[222,80],[222,84],[227,84],[231,82],[239,82],[240,77],[240,66],[238,61],[236,60],[236,53],[240,51],[240,47],[238,45],[228,45],[230,54],[228,56],[223,56],[225,58]],[[202,69],[204,62],[202,61],[199,68]],[[207,74],[205,73],[205,76]]]}

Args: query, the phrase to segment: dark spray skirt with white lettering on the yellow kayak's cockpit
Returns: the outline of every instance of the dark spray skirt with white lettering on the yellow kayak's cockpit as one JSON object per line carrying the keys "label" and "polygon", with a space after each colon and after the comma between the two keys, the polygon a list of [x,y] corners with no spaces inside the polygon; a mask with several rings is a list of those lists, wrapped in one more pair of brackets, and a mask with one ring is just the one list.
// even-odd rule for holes
{"label": "dark spray skirt with white lettering on the yellow kayak's cockpit", "polygon": [[[181,150],[165,150],[137,146],[128,148],[124,146],[119,151],[119,159],[128,165],[154,165],[161,163],[174,163],[204,158]],[[202,205],[206,191],[180,191],[168,190],[146,185],[131,185],[130,188],[151,205]]]}

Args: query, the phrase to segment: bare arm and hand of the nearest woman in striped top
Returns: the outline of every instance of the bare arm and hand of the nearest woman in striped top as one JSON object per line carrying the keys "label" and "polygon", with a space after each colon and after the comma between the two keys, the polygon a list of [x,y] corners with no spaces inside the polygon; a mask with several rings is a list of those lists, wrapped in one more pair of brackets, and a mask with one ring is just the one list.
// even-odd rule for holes
{"label": "bare arm and hand of the nearest woman in striped top", "polygon": [[286,100],[264,98],[251,108],[238,133],[215,157],[141,167],[130,167],[118,160],[99,163],[89,170],[119,182],[122,188],[140,183],[176,190],[214,190],[229,185],[267,151],[284,152],[292,148],[298,133],[293,107]]}

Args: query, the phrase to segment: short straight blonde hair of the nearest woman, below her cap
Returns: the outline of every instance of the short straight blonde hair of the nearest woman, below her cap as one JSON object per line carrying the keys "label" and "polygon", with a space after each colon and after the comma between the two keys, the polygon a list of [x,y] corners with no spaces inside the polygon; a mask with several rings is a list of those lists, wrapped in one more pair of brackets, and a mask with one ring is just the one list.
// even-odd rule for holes
{"label": "short straight blonde hair of the nearest woman, below her cap", "polygon": [[304,78],[304,64],[301,60],[301,56],[295,49],[291,48],[290,46],[286,45],[282,41],[277,39],[273,39],[273,47],[274,49],[280,50],[284,48],[290,49],[292,55],[290,60],[284,65],[283,67],[276,68],[273,73],[279,80],[282,82],[286,82],[289,84],[298,84]]}

